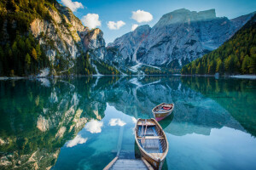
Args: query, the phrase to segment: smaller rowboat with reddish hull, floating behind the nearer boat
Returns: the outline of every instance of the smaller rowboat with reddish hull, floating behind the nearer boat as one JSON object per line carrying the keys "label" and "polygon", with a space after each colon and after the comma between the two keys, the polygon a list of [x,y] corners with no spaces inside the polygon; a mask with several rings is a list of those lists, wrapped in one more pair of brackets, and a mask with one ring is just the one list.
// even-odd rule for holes
{"label": "smaller rowboat with reddish hull, floating behind the nearer boat", "polygon": [[174,109],[174,104],[166,104],[166,103],[161,103],[160,105],[156,105],[154,109],[152,110],[154,114],[154,118],[157,122],[160,122],[166,116],[169,116],[172,114],[172,111]]}

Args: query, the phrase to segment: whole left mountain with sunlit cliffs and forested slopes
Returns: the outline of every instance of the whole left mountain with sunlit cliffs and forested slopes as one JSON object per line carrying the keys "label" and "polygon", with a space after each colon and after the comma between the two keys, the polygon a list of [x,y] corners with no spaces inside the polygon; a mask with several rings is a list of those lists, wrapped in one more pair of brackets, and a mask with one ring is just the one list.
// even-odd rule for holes
{"label": "whole left mountain with sunlit cliffs and forested slopes", "polygon": [[107,54],[102,31],[55,0],[0,0],[0,15],[0,76],[90,75]]}

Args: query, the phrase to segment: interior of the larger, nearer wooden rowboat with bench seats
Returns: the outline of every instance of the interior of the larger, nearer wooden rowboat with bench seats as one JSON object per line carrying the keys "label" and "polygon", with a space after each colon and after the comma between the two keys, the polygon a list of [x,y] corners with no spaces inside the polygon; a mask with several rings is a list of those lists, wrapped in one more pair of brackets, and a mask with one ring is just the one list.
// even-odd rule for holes
{"label": "interior of the larger, nearer wooden rowboat with bench seats", "polygon": [[148,154],[166,152],[164,134],[160,127],[156,126],[152,120],[142,120],[137,123],[137,139],[143,150],[148,152]]}

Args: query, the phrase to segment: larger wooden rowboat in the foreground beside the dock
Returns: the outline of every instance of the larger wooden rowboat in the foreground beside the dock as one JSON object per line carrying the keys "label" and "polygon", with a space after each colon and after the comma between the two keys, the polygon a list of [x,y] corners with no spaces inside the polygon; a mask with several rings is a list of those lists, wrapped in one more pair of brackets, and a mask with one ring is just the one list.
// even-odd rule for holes
{"label": "larger wooden rowboat in the foreground beside the dock", "polygon": [[138,119],[135,140],[144,157],[154,167],[161,169],[169,149],[166,134],[155,119]]}

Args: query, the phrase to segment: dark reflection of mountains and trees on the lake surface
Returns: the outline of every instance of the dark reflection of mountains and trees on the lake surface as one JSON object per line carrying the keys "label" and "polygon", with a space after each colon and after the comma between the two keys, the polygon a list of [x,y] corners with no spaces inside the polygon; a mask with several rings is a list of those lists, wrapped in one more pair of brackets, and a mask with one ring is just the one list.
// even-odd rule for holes
{"label": "dark reflection of mountains and trees on the lake surface", "polygon": [[107,105],[131,117],[132,123],[135,118],[153,117],[152,108],[161,102],[174,103],[172,116],[160,125],[176,136],[209,135],[212,128],[221,127],[255,136],[255,87],[255,81],[205,77],[1,81],[0,167],[49,168],[65,143],[87,144],[88,138],[78,135],[83,127],[102,133],[111,125],[133,126],[116,117],[100,122]]}

